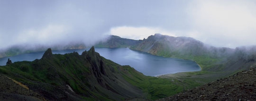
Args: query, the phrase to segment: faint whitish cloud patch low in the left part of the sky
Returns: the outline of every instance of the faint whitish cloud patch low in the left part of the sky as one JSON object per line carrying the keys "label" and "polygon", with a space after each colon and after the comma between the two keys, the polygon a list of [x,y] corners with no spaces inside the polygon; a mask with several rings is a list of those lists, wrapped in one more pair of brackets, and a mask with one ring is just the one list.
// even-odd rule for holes
{"label": "faint whitish cloud patch low in the left part of the sky", "polygon": [[12,36],[12,40],[5,44],[7,46],[12,46],[15,44],[45,44],[54,45],[57,43],[65,42],[70,29],[64,25],[47,25],[46,27],[40,29],[26,29],[21,31],[19,34]]}

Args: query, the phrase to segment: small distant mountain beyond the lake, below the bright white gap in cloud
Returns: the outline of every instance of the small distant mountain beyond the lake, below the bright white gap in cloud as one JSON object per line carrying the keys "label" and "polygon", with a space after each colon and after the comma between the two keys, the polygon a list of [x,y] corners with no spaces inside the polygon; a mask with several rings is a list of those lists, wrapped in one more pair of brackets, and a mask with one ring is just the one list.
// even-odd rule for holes
{"label": "small distant mountain beyond the lake, below the bright white gap in cloud", "polygon": [[138,44],[139,42],[141,42],[141,40],[132,40],[132,39],[121,38],[121,37],[115,36],[115,35],[110,35],[109,38],[95,44],[94,46],[95,47],[120,48],[120,47],[130,47],[130,46]]}

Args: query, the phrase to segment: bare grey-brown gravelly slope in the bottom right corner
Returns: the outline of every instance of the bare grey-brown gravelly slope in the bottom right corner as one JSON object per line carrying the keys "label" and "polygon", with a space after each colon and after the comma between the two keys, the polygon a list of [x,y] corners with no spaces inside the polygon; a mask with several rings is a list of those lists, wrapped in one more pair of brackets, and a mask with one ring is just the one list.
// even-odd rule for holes
{"label": "bare grey-brown gravelly slope in the bottom right corner", "polygon": [[256,69],[175,94],[157,101],[256,101]]}

